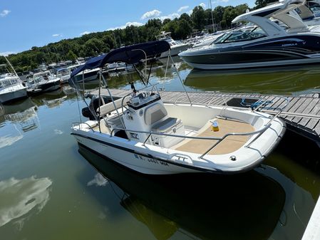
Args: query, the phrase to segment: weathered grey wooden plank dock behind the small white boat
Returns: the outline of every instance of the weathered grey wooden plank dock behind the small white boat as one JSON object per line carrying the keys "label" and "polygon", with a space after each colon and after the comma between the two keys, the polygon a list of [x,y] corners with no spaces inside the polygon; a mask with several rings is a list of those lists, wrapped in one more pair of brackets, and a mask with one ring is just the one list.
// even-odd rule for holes
{"label": "weathered grey wooden plank dock behind the small white boat", "polygon": [[[130,90],[110,89],[113,97],[122,98],[128,95]],[[98,90],[93,90],[89,94],[96,95]],[[101,90],[102,95],[108,95],[108,91]],[[169,103],[190,103],[204,105],[228,105],[236,108],[249,108],[241,104],[244,102],[254,103],[257,100],[269,101],[268,108],[283,108],[279,117],[287,123],[289,130],[299,135],[308,137],[320,144],[320,93],[309,95],[262,95],[252,93],[217,93],[209,91],[185,92],[163,91],[160,92],[164,102]],[[275,114],[278,110],[263,109],[265,113]]]}

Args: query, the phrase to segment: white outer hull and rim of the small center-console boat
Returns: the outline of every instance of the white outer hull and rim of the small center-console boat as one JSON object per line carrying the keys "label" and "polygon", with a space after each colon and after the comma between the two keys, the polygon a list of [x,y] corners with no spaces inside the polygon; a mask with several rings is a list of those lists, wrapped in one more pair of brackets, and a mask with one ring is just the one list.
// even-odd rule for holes
{"label": "white outer hull and rim of the small center-console boat", "polygon": [[[255,113],[252,114],[255,115]],[[268,120],[269,118],[264,118],[264,121]],[[257,122],[261,124],[261,121]],[[284,135],[285,129],[284,122],[276,119],[272,122],[271,127],[259,137],[259,140],[250,143],[252,144],[250,147],[243,146],[235,152],[221,155],[208,155],[202,159],[205,161],[200,160],[199,154],[172,151],[154,145],[143,145],[142,142],[128,141],[122,137],[110,137],[103,132],[94,131],[86,123],[74,125],[71,128],[71,135],[76,138],[79,145],[83,145],[98,155],[143,174],[187,172],[234,174],[247,172],[257,167],[269,155],[269,152],[277,146]],[[230,161],[229,157],[232,155],[238,156],[237,161]],[[182,160],[180,157],[182,157]]]}

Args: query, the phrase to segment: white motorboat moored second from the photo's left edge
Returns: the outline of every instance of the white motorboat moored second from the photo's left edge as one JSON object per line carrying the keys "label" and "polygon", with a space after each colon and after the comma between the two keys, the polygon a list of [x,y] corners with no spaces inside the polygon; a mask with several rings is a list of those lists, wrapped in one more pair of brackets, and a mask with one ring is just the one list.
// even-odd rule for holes
{"label": "white motorboat moored second from the photo's left edge", "polygon": [[50,71],[34,73],[32,78],[28,78],[26,81],[28,93],[30,94],[57,90],[60,88],[60,83],[61,78],[57,78],[56,75],[52,74]]}

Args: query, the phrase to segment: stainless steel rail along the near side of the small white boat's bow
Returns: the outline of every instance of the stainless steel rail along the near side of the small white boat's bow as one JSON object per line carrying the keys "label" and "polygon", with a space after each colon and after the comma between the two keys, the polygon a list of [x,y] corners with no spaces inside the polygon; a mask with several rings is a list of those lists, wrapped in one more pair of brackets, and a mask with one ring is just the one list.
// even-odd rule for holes
{"label": "stainless steel rail along the near side of the small white boat's bow", "polygon": [[[279,115],[279,114],[277,114]],[[277,115],[274,115],[274,118],[277,118]],[[145,145],[145,143],[148,141],[148,139],[150,138],[151,135],[160,135],[160,136],[167,136],[167,137],[180,137],[180,138],[189,138],[189,139],[199,139],[199,140],[217,140],[217,142],[215,142],[214,145],[212,145],[212,147],[209,148],[209,150],[207,150],[204,154],[202,154],[199,158],[203,158],[205,155],[207,155],[208,152],[210,152],[213,148],[215,148],[220,142],[222,142],[222,140],[224,140],[226,137],[228,136],[247,136],[247,135],[255,135],[259,133],[259,136],[262,135],[263,132],[265,132],[270,126],[271,126],[271,122],[272,120],[274,120],[274,118],[272,118],[271,120],[269,120],[269,122],[267,122],[266,125],[264,125],[264,127],[262,127],[262,129],[254,131],[254,132],[230,132],[227,133],[226,135],[224,135],[223,137],[196,137],[196,136],[186,136],[186,135],[172,135],[172,134],[167,134],[167,133],[163,133],[163,132],[153,132],[153,131],[140,131],[140,130],[129,130],[129,129],[124,129],[124,128],[120,128],[120,127],[115,127],[113,128],[113,130],[110,133],[110,137],[113,137],[113,132],[115,130],[124,130],[125,132],[138,132],[138,133],[145,133],[148,134],[148,137],[146,138],[145,142],[143,142],[143,146]],[[254,142],[255,140],[257,140],[257,137],[254,138],[254,140],[252,140],[252,142]],[[249,145],[252,144],[252,142],[249,143]],[[248,147],[249,147],[248,145]]]}

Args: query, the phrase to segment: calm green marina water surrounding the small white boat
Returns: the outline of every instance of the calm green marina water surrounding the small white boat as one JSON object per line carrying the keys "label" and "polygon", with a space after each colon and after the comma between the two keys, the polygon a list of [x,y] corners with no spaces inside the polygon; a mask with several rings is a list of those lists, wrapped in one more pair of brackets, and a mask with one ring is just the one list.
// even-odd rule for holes
{"label": "calm green marina water surrounding the small white boat", "polygon": [[[187,90],[319,88],[319,66],[232,74],[177,67]],[[161,63],[154,70],[153,82],[182,90],[172,68],[166,79]],[[130,88],[125,77],[136,75],[114,76],[110,86]],[[264,165],[245,174],[146,177],[78,151],[70,127],[83,106],[64,87],[0,107],[1,240],[301,239],[320,192],[313,142],[287,132]]]}

